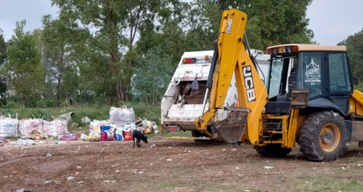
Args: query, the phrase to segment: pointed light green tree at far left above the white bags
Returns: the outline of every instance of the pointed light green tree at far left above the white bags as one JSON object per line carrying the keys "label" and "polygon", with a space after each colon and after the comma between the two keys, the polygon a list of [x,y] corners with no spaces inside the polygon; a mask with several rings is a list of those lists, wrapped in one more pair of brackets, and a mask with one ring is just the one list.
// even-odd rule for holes
{"label": "pointed light green tree at far left above the white bags", "polygon": [[24,31],[25,20],[16,23],[14,35],[9,41],[8,60],[2,70],[23,105],[31,97],[43,92],[41,55],[34,35]]}

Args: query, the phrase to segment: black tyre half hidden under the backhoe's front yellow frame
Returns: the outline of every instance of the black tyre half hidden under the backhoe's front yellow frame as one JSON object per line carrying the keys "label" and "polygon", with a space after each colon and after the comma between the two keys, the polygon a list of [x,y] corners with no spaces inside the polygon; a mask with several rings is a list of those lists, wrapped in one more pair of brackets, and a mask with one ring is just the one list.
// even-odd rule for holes
{"label": "black tyre half hidden under the backhoe's front yellow frame", "polygon": [[284,157],[291,152],[290,148],[283,148],[281,145],[270,144],[267,146],[254,146],[256,152],[262,157]]}

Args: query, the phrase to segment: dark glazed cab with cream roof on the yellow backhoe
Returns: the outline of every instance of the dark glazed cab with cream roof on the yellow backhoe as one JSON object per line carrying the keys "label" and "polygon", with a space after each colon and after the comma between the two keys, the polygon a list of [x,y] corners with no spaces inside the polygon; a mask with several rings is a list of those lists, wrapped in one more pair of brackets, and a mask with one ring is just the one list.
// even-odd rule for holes
{"label": "dark glazed cab with cream roof on the yellow backhoe", "polygon": [[270,54],[266,112],[288,114],[292,89],[309,89],[310,108],[330,108],[345,115],[353,91],[345,46],[286,44]]}

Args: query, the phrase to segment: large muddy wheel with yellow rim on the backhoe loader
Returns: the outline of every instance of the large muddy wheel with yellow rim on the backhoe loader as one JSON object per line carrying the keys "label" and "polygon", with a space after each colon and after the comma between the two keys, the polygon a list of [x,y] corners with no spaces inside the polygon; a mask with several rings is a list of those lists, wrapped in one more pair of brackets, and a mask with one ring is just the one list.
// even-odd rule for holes
{"label": "large muddy wheel with yellow rim on the backhoe loader", "polygon": [[318,112],[302,124],[300,152],[312,161],[335,161],[343,155],[346,138],[344,119],[338,113]]}

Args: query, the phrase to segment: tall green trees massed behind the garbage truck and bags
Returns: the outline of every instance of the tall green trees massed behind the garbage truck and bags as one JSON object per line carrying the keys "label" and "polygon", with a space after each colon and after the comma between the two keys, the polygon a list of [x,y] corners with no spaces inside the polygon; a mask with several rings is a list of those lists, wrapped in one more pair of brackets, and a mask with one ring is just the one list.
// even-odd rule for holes
{"label": "tall green trees massed behind the garbage truck and bags", "polygon": [[[120,100],[156,105],[184,52],[213,49],[221,14],[229,8],[248,14],[252,49],[310,43],[314,36],[306,18],[312,0],[51,2],[59,16],[43,16],[40,29],[24,32],[21,21],[9,42],[0,34],[9,93],[28,106],[62,106],[71,99],[80,105]],[[41,96],[49,102],[38,101]]]}

